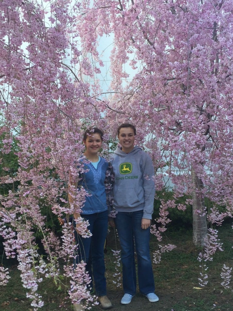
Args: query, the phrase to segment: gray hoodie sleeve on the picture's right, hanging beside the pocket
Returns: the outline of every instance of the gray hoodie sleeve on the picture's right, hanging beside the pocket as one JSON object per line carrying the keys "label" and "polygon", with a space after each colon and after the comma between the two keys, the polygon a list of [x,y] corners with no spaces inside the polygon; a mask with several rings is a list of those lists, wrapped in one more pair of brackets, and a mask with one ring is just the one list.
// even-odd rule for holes
{"label": "gray hoodie sleeve on the picture's right, hanging beside the pocket", "polygon": [[154,210],[155,184],[153,163],[148,154],[145,154],[142,172],[144,188],[143,218],[152,219]]}

